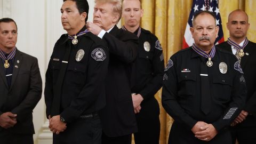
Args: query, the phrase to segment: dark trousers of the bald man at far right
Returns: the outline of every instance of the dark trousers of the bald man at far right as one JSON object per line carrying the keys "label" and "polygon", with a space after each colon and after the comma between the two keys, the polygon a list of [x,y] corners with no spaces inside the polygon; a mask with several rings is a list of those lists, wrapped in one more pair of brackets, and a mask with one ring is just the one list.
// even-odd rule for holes
{"label": "dark trousers of the bald man at far right", "polygon": [[247,116],[241,124],[231,127],[232,143],[236,140],[239,144],[256,143],[256,119],[253,116]]}

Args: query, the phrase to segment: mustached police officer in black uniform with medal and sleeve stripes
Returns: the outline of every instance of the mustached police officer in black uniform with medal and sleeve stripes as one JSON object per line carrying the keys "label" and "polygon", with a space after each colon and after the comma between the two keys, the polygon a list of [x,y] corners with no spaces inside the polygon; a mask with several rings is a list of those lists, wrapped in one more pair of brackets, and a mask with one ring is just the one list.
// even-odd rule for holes
{"label": "mustached police officer in black uniform with medal and sleeve stripes", "polygon": [[200,11],[190,28],[193,46],[167,63],[162,103],[174,118],[169,143],[231,143],[227,126],[246,98],[243,71],[233,54],[215,48],[214,14]]}

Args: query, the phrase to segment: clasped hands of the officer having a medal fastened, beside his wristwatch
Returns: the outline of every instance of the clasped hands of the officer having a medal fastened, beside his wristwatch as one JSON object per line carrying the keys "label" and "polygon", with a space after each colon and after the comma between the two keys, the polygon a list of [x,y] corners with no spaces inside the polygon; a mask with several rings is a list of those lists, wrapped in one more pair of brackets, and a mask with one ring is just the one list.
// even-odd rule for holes
{"label": "clasped hands of the officer having a medal fastened, beside his wristwatch", "polygon": [[60,115],[49,116],[49,129],[52,133],[59,134],[67,129],[66,123],[60,121]]}

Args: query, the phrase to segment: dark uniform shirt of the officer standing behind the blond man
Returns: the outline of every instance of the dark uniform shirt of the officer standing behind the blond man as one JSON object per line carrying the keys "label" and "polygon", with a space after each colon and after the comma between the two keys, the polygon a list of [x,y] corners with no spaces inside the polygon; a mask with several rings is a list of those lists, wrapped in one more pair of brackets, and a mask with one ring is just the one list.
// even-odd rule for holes
{"label": "dark uniform shirt of the officer standing behind the blond man", "polygon": [[[134,34],[140,33],[139,29]],[[132,82],[132,93],[141,94],[145,100],[154,97],[162,87],[164,56],[158,38],[143,28],[139,35],[138,56],[134,64],[135,73],[132,77],[135,77],[135,82]]]}

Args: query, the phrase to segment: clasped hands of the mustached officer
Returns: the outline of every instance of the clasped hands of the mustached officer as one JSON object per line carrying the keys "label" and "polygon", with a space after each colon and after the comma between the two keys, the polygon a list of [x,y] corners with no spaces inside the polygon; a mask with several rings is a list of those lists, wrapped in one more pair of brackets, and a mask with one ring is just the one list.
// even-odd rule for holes
{"label": "clasped hands of the mustached officer", "polygon": [[195,137],[199,140],[210,141],[215,135],[217,135],[217,130],[212,124],[207,124],[202,121],[198,121],[191,131],[195,134]]}

